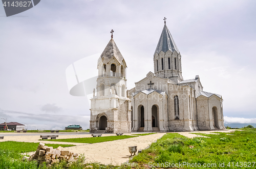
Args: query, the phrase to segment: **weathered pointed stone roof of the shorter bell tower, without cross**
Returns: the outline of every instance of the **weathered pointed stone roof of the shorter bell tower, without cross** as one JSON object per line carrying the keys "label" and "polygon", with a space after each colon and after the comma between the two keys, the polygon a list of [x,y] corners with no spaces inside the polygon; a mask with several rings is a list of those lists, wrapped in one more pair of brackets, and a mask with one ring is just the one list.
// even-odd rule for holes
{"label": "weathered pointed stone roof of the shorter bell tower, without cross", "polygon": [[113,57],[115,57],[116,60],[120,64],[122,63],[123,56],[122,56],[121,52],[119,51],[115,41],[113,40],[113,38],[111,38],[110,42],[108,43],[108,45],[106,45],[105,49],[101,53],[101,55],[98,59],[98,64],[100,63],[102,58],[104,58],[106,63],[109,63]]}

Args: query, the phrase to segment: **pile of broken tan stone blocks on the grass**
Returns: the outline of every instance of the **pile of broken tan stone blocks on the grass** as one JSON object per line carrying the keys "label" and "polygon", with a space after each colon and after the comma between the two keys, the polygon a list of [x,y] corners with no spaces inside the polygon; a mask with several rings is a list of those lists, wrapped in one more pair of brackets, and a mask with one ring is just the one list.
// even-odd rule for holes
{"label": "pile of broken tan stone blocks on the grass", "polygon": [[67,162],[72,162],[77,160],[77,158],[77,153],[74,154],[68,150],[63,150],[60,146],[57,149],[53,149],[53,147],[45,146],[44,143],[39,143],[36,152],[30,157],[24,156],[23,160],[34,160],[39,164],[45,162],[47,166],[51,166],[51,164],[59,162],[61,159],[66,160]]}

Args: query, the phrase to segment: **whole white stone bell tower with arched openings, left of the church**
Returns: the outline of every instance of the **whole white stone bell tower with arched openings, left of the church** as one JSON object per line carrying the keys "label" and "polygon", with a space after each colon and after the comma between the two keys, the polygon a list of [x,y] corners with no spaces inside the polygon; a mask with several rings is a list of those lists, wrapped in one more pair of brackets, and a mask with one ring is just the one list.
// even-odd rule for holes
{"label": "whole white stone bell tower with arched openings, left of the church", "polygon": [[131,132],[131,101],[126,93],[126,63],[113,40],[98,59],[97,87],[91,99],[90,132]]}

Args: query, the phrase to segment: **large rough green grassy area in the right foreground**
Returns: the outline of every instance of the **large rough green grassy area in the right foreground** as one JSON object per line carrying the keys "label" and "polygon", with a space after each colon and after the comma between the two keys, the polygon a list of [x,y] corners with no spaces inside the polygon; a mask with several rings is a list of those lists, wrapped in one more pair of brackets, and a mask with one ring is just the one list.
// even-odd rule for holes
{"label": "large rough green grassy area in the right foreground", "polygon": [[[243,162],[245,166],[245,162],[246,164],[251,162],[250,168],[253,168],[252,162],[256,159],[256,129],[227,134],[230,133],[202,134],[210,138],[186,138],[177,133],[167,133],[150,148],[135,156],[131,162],[138,164],[186,162],[201,165],[201,167],[184,165],[182,168],[208,168],[203,167],[203,164],[216,164],[216,166],[211,165],[211,168],[241,168],[236,164],[241,165],[240,162]],[[224,163],[224,167],[220,167],[220,163]]]}

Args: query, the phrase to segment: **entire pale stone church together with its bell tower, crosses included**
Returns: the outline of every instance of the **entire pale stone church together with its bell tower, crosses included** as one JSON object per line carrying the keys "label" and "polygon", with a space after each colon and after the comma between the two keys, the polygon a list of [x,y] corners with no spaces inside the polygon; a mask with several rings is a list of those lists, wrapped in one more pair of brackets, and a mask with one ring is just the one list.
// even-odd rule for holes
{"label": "entire pale stone church together with its bell tower, crosses included", "polygon": [[127,66],[111,31],[111,40],[98,59],[90,132],[225,129],[222,96],[203,91],[199,75],[183,79],[181,54],[165,19],[154,53],[154,73],[148,72],[131,90],[126,89]]}

